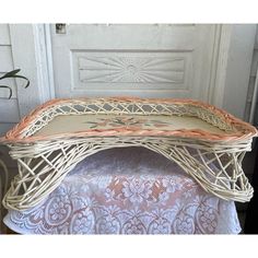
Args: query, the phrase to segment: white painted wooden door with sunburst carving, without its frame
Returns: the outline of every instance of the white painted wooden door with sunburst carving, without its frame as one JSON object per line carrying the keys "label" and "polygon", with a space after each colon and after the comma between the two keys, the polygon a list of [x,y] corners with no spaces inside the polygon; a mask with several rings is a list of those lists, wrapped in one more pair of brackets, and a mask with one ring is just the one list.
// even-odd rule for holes
{"label": "white painted wooden door with sunburst carving, without its frame", "polygon": [[219,25],[51,25],[57,97],[209,99]]}

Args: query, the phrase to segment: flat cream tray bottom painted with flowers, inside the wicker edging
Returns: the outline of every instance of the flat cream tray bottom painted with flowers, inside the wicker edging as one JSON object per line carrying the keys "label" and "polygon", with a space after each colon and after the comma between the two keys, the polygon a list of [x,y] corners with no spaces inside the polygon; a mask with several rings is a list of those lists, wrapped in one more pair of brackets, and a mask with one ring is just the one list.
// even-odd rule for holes
{"label": "flat cream tray bottom painted with flowers, inside the wicker edging", "polygon": [[125,130],[178,130],[201,129],[207,132],[225,134],[226,132],[196,117],[178,117],[165,115],[62,115],[55,117],[34,136],[51,136],[56,133],[77,132],[103,129]]}

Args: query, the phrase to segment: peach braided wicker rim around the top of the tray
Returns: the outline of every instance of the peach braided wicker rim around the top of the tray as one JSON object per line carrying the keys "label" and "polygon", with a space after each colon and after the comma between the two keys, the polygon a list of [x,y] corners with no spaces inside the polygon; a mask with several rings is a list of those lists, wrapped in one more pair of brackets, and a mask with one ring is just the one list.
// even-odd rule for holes
{"label": "peach braided wicker rim around the top of the tray", "polygon": [[85,131],[77,131],[70,133],[58,133],[52,136],[38,136],[38,137],[26,137],[22,138],[22,132],[26,129],[26,127],[33,122],[38,116],[40,116],[45,110],[49,109],[50,107],[55,107],[55,105],[66,104],[66,103],[75,103],[75,102],[87,102],[93,101],[94,98],[56,98],[51,99],[36,109],[34,109],[30,115],[24,117],[13,129],[11,129],[5,137],[1,138],[0,141],[2,142],[34,142],[34,141],[45,141],[45,140],[55,140],[60,138],[74,138],[74,137],[178,137],[178,138],[194,138],[207,141],[237,141],[243,139],[250,139],[253,137],[258,136],[258,131],[255,127],[250,126],[247,122],[242,121],[241,119],[227,114],[226,112],[216,108],[215,106],[201,103],[199,101],[192,99],[173,99],[173,98],[138,98],[138,97],[108,97],[108,98],[95,98],[95,101],[105,101],[105,102],[138,102],[138,103],[153,103],[153,104],[190,104],[192,106],[202,107],[210,110],[214,116],[221,117],[226,124],[233,126],[237,132],[227,133],[227,134],[218,134],[218,133],[210,133],[203,130],[173,130],[173,131],[164,131],[164,130],[133,130],[127,128],[116,128],[116,129],[91,129]]}

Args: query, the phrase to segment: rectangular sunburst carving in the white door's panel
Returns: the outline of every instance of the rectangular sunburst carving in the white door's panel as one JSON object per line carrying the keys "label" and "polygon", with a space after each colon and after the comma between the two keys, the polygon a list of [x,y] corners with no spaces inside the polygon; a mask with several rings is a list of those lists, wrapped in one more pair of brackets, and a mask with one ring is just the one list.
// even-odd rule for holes
{"label": "rectangular sunburst carving in the white door's panel", "polygon": [[78,57],[81,82],[184,83],[184,57]]}

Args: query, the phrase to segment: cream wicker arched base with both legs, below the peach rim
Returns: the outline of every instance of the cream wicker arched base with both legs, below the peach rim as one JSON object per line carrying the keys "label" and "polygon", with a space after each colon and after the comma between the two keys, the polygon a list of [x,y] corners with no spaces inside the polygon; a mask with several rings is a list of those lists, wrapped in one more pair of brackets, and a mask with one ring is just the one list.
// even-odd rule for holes
{"label": "cream wicker arched base with both legs, below the peach rim", "polygon": [[10,154],[17,160],[19,175],[3,199],[4,207],[24,210],[36,206],[86,156],[121,146],[144,146],[166,156],[206,191],[225,200],[248,201],[253,196],[242,169],[242,160],[250,142],[239,143],[238,148],[218,145],[211,149],[204,143],[168,138],[91,138],[37,143],[30,148],[12,145]]}

